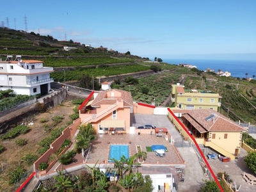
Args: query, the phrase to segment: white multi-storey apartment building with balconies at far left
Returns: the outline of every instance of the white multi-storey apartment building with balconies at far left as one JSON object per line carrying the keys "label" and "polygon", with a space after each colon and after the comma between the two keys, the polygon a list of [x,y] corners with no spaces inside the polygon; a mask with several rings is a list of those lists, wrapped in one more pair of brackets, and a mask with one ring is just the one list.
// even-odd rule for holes
{"label": "white multi-storey apartment building with balconies at far left", "polygon": [[14,94],[46,95],[51,90],[53,67],[44,67],[43,61],[22,60],[21,56],[7,56],[0,61],[0,89],[12,89]]}

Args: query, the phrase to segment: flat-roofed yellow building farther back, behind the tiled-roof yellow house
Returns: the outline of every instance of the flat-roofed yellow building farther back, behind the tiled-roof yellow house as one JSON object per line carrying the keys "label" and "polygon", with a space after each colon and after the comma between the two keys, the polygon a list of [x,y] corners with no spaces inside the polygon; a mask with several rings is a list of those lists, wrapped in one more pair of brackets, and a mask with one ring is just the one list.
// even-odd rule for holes
{"label": "flat-roofed yellow building farther back, behind the tiled-roof yellow house", "polygon": [[172,101],[180,109],[213,109],[221,106],[219,93],[211,91],[184,90],[184,86],[172,84]]}

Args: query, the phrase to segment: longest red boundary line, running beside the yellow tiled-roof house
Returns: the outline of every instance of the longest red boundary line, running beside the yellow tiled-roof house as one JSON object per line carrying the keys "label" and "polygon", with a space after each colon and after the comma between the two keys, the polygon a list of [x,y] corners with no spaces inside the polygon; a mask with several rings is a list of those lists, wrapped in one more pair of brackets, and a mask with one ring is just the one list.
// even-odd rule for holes
{"label": "longest red boundary line, running beside the yellow tiled-roof house", "polygon": [[188,132],[188,130],[186,129],[186,127],[180,122],[180,120],[177,118],[177,116],[174,115],[173,111],[172,111],[170,108],[168,108],[168,111],[172,114],[172,116],[175,118],[175,120],[177,120],[177,122],[178,122],[178,123],[180,124],[180,126],[184,129],[184,131],[187,132],[187,134],[189,135],[189,137],[191,138],[191,140],[194,141],[194,143],[195,143],[195,145],[196,145],[196,148],[197,148],[198,151],[200,152],[202,158],[204,159],[205,164],[206,164],[207,167],[209,168],[209,170],[210,170],[210,172],[211,172],[211,174],[212,174],[212,177],[214,178],[215,182],[217,183],[218,187],[220,188],[220,191],[223,192],[223,189],[221,188],[221,185],[220,185],[219,180],[217,179],[217,177],[215,176],[214,172],[212,171],[212,168],[211,168],[210,164],[208,163],[207,159],[205,158],[205,156],[204,156],[204,154],[203,154],[201,148],[200,148],[199,145],[196,143],[195,138],[193,138],[193,137],[191,136],[191,134],[189,134],[189,132]]}

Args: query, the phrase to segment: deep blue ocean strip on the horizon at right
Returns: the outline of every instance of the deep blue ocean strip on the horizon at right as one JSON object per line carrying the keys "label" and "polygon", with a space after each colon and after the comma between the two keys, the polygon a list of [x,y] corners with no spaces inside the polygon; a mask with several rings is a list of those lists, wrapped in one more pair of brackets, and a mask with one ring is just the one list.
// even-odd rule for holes
{"label": "deep blue ocean strip on the horizon at right", "polygon": [[[164,63],[169,64],[190,64],[195,65],[199,70],[206,70],[207,68],[214,69],[218,72],[219,69],[231,73],[232,77],[252,77],[256,76],[256,61],[250,60],[188,60],[188,59],[162,59]],[[256,79],[256,77],[255,77]]]}

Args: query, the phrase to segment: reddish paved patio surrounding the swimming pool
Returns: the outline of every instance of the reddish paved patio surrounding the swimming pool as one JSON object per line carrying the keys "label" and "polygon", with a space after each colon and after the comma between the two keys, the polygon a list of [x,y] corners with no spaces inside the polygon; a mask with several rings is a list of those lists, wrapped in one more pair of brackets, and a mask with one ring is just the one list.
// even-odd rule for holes
{"label": "reddish paved patio surrounding the swimming pool", "polygon": [[[129,144],[131,141],[131,144]],[[110,142],[110,144],[108,144]],[[151,145],[164,145],[168,152],[166,156],[158,157],[155,152],[147,152],[147,159],[143,164],[163,164],[163,165],[182,165],[182,158],[177,154],[177,150],[173,148],[173,145],[164,138],[156,137],[150,134],[123,134],[123,135],[98,135],[97,140],[92,141],[92,149],[88,156],[86,163],[103,163],[108,161],[108,148],[109,145],[129,145],[131,150],[131,156],[136,154],[136,145],[140,145],[141,149],[147,152],[146,147]]]}

